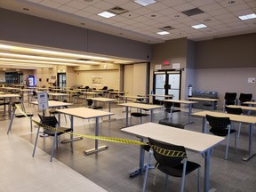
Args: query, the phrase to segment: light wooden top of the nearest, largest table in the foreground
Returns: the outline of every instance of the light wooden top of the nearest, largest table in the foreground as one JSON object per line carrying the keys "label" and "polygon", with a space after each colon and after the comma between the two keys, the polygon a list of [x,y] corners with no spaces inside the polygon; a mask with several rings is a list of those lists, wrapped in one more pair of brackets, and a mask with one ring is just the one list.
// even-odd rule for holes
{"label": "light wooden top of the nearest, largest table in the foreground", "polygon": [[203,154],[208,148],[218,145],[223,137],[204,134],[201,132],[192,132],[183,129],[172,128],[163,124],[138,124],[132,127],[122,129],[123,132],[129,132],[134,135],[152,138],[166,143],[184,146]]}

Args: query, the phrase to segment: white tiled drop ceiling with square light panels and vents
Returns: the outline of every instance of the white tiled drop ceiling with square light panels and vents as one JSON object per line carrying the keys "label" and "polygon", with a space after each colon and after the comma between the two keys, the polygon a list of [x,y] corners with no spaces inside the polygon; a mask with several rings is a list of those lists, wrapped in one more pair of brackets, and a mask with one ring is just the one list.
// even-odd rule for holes
{"label": "white tiled drop ceiling with square light panels and vents", "polygon": [[[156,0],[148,6],[132,0],[0,0],[0,7],[148,44],[181,37],[200,41],[256,32],[256,19],[238,18],[256,13],[256,0]],[[108,10],[121,13],[108,19],[98,15]],[[207,28],[191,28],[197,24]],[[170,34],[156,34],[162,30]],[[76,60],[79,58],[81,55]],[[122,61],[131,62],[110,62]]]}

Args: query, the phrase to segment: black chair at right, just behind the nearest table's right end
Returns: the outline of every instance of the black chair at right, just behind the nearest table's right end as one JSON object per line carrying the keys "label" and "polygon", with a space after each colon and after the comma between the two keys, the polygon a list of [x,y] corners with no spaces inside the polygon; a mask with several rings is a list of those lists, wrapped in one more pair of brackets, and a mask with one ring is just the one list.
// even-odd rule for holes
{"label": "black chair at right, just behind the nearest table's right end", "polygon": [[235,135],[235,153],[236,153],[236,130],[231,129],[231,122],[228,117],[218,117],[218,116],[209,116],[206,115],[206,120],[210,124],[211,129],[210,132],[214,135],[218,135],[221,137],[227,136],[227,146],[225,159],[228,159],[228,146],[229,146],[229,136],[231,133]]}

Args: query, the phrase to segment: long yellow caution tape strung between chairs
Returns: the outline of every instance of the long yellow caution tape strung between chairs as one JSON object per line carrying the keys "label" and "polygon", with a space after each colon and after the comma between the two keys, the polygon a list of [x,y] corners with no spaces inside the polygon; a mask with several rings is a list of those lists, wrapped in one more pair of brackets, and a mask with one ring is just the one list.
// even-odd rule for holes
{"label": "long yellow caution tape strung between chairs", "polygon": [[[24,113],[24,111],[22,111],[22,109],[20,108],[20,105],[15,104],[15,107],[20,111],[20,113],[26,117],[27,114]],[[29,118],[29,117],[28,117]],[[30,118],[29,118],[30,119]],[[63,130],[58,129],[58,127],[52,127],[49,126],[47,124],[42,124],[40,122],[37,122],[36,120],[32,119],[33,123],[36,124],[37,126],[43,127],[44,129],[48,129],[48,130],[52,130],[55,132],[64,132]],[[64,132],[64,133],[68,133],[68,134],[72,134],[74,136],[79,136],[79,137],[83,137],[83,138],[88,138],[88,139],[92,139],[92,140],[105,140],[105,141],[109,141],[109,142],[116,142],[116,143],[123,143],[123,144],[132,144],[132,145],[148,145],[148,143],[145,142],[141,142],[138,140],[127,140],[127,139],[121,139],[121,138],[112,138],[112,137],[103,137],[103,136],[95,136],[95,135],[84,135],[84,134],[79,134],[79,133],[71,133],[71,132]],[[157,153],[163,155],[163,156],[186,156],[186,153],[183,151],[176,151],[176,150],[169,150],[169,149],[164,149],[164,148],[159,148],[157,146],[154,145],[150,145],[151,148],[153,148],[154,151],[156,151]]]}

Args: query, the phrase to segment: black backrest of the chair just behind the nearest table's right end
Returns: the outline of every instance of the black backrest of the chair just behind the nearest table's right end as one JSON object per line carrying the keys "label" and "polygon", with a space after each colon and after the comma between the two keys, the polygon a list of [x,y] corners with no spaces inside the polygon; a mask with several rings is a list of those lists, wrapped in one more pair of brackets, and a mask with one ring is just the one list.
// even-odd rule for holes
{"label": "black backrest of the chair just behind the nearest table's right end", "polygon": [[231,124],[229,117],[209,116],[206,115],[206,120],[212,128],[225,129]]}

